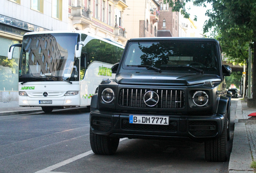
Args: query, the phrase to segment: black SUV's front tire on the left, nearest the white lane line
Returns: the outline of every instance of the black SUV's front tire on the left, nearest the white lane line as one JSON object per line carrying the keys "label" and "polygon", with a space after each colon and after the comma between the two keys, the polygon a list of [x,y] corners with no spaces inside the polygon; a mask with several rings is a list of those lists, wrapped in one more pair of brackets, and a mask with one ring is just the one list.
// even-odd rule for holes
{"label": "black SUV's front tire on the left, nearest the white lane line", "polygon": [[90,144],[95,154],[113,155],[118,148],[119,138],[97,135],[90,129]]}

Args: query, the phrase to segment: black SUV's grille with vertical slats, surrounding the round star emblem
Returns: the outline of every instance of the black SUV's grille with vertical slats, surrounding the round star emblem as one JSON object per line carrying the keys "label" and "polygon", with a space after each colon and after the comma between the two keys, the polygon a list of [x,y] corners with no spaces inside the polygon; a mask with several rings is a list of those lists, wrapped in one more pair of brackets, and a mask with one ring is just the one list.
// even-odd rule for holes
{"label": "black SUV's grille with vertical slats, surrounding the round star emblem", "polygon": [[143,99],[148,91],[154,91],[159,96],[157,105],[152,108],[177,109],[185,107],[184,91],[178,89],[121,89],[118,104],[125,107],[148,107]]}

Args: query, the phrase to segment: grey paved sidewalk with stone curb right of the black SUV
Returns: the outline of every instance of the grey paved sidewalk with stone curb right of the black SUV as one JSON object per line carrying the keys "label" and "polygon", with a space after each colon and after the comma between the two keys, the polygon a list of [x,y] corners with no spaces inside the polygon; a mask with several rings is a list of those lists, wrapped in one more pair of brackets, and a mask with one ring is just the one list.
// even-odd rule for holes
{"label": "grey paved sidewalk with stone curb right of the black SUV", "polygon": [[244,101],[237,102],[228,173],[254,173],[250,165],[256,161],[256,119],[248,119],[248,115],[255,112]]}

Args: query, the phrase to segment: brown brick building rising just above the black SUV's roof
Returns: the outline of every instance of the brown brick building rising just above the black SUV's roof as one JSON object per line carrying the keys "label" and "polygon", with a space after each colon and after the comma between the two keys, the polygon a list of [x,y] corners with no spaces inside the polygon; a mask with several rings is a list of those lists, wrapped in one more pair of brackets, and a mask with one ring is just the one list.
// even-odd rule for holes
{"label": "brown brick building rising just above the black SUV's roof", "polygon": [[158,30],[169,30],[171,36],[179,36],[179,12],[172,12],[169,8],[169,4],[165,3],[164,0],[159,0],[160,6],[158,10],[160,12]]}

